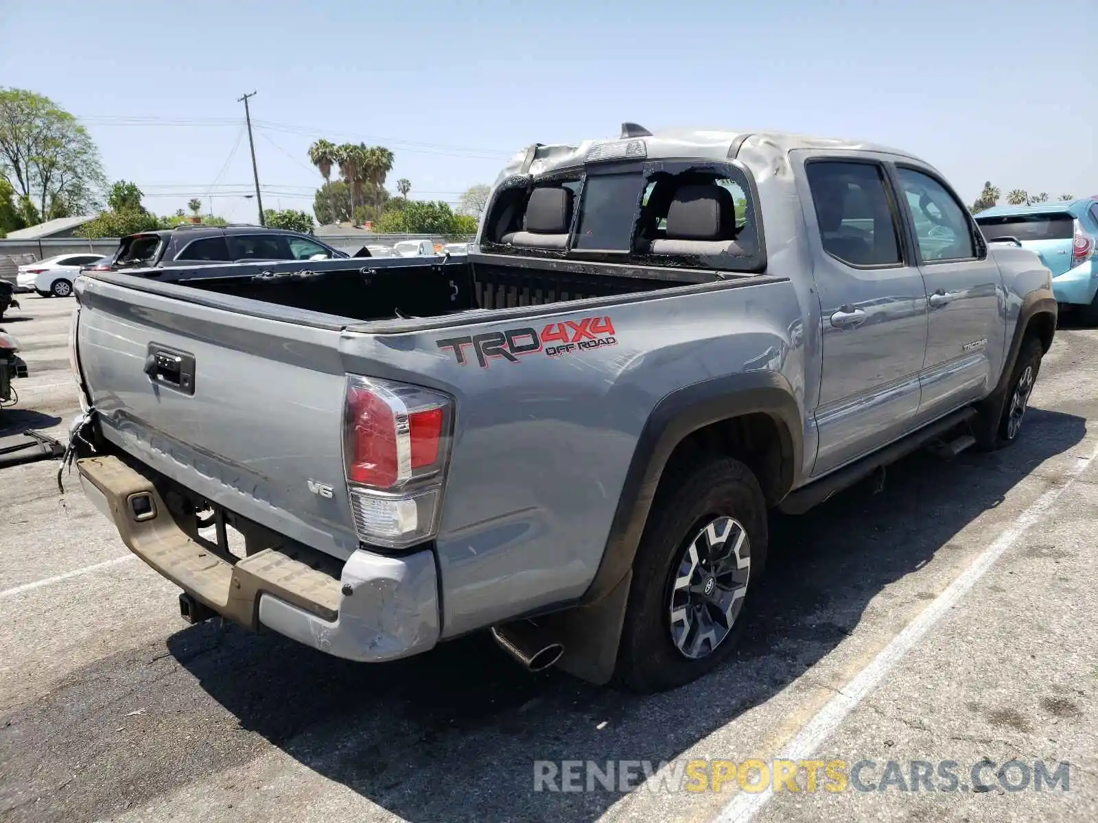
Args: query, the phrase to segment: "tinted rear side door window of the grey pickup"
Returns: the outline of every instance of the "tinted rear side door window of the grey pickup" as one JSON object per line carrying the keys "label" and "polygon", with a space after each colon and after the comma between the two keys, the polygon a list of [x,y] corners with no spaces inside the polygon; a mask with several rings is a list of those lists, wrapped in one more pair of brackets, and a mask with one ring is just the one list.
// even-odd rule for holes
{"label": "tinted rear side door window of the grey pickup", "polygon": [[809,162],[808,188],[824,250],[853,266],[900,262],[884,170],[861,162]]}

